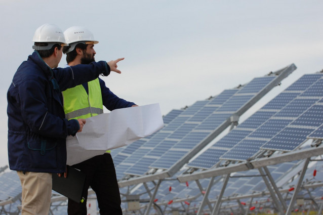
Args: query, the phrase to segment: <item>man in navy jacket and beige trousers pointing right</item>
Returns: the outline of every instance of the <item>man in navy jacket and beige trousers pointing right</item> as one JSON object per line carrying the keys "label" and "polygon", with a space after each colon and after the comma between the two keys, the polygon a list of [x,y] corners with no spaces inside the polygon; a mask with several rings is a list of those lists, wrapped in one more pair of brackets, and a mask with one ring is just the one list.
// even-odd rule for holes
{"label": "man in navy jacket and beige trousers pointing right", "polygon": [[85,119],[67,120],[61,91],[108,75],[120,60],[55,68],[66,46],[62,30],[53,24],[36,29],[35,50],[16,71],[7,93],[8,157],[22,186],[22,214],[48,214],[52,174],[66,168],[68,135],[81,132]]}

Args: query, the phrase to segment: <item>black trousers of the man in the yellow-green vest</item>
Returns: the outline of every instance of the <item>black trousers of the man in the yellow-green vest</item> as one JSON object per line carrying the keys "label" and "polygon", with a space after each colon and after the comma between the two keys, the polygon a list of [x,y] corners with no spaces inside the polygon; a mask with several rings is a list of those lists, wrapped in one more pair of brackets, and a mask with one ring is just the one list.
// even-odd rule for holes
{"label": "black trousers of the man in the yellow-green vest", "polygon": [[122,214],[121,199],[115,168],[109,153],[98,155],[81,163],[73,165],[86,174],[83,190],[83,203],[68,199],[68,215],[87,215],[88,189],[94,190],[98,200],[101,215]]}

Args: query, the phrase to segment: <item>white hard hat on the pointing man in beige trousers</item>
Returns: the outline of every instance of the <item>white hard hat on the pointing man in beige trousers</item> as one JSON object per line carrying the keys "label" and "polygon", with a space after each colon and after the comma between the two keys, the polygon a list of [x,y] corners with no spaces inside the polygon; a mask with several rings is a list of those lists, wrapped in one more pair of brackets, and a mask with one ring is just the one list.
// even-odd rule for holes
{"label": "white hard hat on the pointing man in beige trousers", "polygon": [[48,46],[33,46],[35,50],[49,50],[54,44],[68,46],[63,31],[54,24],[44,24],[38,27],[32,38],[33,42],[47,42]]}

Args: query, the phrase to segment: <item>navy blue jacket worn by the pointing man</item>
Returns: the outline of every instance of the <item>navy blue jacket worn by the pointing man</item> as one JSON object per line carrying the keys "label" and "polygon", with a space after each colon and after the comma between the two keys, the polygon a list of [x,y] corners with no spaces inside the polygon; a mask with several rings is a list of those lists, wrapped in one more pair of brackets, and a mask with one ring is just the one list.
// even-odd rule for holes
{"label": "navy blue jacket worn by the pointing man", "polygon": [[79,124],[65,119],[61,91],[91,81],[102,72],[110,72],[105,61],[51,69],[36,51],[20,65],[7,93],[10,169],[65,171],[65,138],[75,135]]}

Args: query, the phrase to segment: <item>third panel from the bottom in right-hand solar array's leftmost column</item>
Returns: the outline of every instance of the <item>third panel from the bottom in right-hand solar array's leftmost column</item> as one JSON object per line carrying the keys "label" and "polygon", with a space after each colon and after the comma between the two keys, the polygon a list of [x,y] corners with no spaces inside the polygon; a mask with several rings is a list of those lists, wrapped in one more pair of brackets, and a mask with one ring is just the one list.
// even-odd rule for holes
{"label": "third panel from the bottom in right-hand solar array's leftmost column", "polygon": [[246,119],[243,123],[239,124],[237,127],[239,128],[257,128],[262,123],[267,121],[271,116],[273,116],[276,112],[273,111],[257,111],[248,119]]}

